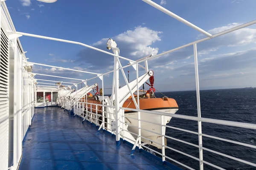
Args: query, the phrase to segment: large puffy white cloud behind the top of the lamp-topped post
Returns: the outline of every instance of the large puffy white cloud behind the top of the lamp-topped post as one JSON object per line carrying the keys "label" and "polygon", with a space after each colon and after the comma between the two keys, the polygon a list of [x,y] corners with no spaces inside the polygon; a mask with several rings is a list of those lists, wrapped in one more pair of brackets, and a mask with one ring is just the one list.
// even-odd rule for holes
{"label": "large puffy white cloud behind the top of the lamp-topped post", "polygon": [[[120,49],[121,56],[136,60],[140,57],[145,57],[150,54],[156,55],[158,53],[158,48],[152,47],[152,45],[154,42],[161,41],[161,33],[161,31],[154,31],[147,27],[138,26],[111,38],[116,41],[117,47]],[[108,38],[102,38],[101,40],[93,43],[93,46],[107,51],[107,41]],[[97,51],[92,51],[88,48],[81,50],[78,56],[80,62],[86,61],[87,63],[92,64],[90,69],[98,69],[95,67],[96,65],[107,68],[108,65],[113,63],[113,59],[109,56]],[[96,60],[93,56],[97,56],[98,59]],[[102,67],[102,69],[104,68]]]}

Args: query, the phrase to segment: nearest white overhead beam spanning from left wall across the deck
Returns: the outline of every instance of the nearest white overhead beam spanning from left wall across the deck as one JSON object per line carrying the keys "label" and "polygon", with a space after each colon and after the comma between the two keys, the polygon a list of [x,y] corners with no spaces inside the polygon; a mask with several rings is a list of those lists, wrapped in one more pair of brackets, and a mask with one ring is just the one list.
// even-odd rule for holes
{"label": "nearest white overhead beam spanning from left wall across the deck", "polygon": [[21,35],[28,36],[28,37],[36,37],[36,38],[42,38],[42,39],[47,39],[47,40],[53,40],[53,41],[67,42],[67,43],[70,43],[70,44],[78,44],[78,45],[82,45],[84,47],[91,48],[93,50],[96,50],[96,51],[99,51],[99,52],[102,52],[102,53],[105,53],[105,54],[108,54],[108,55],[111,55],[111,56],[114,56],[114,57],[118,57],[118,58],[121,58],[121,59],[125,59],[127,61],[134,62],[134,60],[131,60],[131,59],[128,59],[128,58],[125,58],[125,57],[121,57],[121,56],[116,55],[116,54],[112,54],[112,53],[110,53],[108,51],[104,51],[104,50],[101,50],[99,48],[95,48],[93,46],[83,44],[81,42],[70,41],[70,40],[63,40],[63,39],[59,39],[59,38],[52,38],[52,37],[46,37],[46,36],[41,36],[41,35],[35,35],[35,34],[28,34],[28,33],[17,32],[17,31],[16,31],[16,34],[21,34]]}

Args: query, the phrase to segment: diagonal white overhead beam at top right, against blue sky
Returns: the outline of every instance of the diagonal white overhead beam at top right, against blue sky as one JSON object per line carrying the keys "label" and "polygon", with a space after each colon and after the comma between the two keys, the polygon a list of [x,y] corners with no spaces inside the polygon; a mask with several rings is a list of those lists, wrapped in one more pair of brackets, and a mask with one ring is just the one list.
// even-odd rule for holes
{"label": "diagonal white overhead beam at top right, against blue sky", "polygon": [[172,13],[171,11],[167,10],[166,8],[163,8],[163,6],[158,5],[157,3],[154,3],[151,0],[143,0],[145,3],[153,6],[154,8],[157,8],[158,10],[162,11],[163,13],[166,13],[167,15],[175,18],[176,20],[180,21],[181,23],[186,24],[187,26],[201,32],[202,34],[207,35],[207,37],[211,37],[212,34],[209,34],[207,31],[204,31],[203,29],[199,28],[198,26],[195,26],[194,24],[190,23],[189,21],[183,19],[182,17]]}

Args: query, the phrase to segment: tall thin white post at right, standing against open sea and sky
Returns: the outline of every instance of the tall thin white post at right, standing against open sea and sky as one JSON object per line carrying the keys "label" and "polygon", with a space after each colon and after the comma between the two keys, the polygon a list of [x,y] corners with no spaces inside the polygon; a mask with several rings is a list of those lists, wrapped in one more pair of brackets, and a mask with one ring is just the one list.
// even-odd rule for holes
{"label": "tall thin white post at right, standing against open sea and sky", "polygon": [[[195,60],[195,85],[196,85],[196,101],[198,118],[201,118],[201,107],[200,107],[200,93],[199,93],[199,77],[198,77],[198,59],[197,59],[197,48],[196,44],[194,46],[194,60]],[[202,122],[198,121],[198,145],[199,145],[199,159],[200,159],[200,170],[204,170],[203,164],[203,141],[202,141]]]}

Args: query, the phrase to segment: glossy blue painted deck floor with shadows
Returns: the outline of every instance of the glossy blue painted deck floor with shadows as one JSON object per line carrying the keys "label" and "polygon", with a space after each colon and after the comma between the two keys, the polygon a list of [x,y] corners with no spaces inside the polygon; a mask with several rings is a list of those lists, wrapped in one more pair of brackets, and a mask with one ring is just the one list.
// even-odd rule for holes
{"label": "glossy blue painted deck floor with shadows", "polygon": [[131,146],[97,133],[94,125],[58,107],[37,108],[24,139],[19,170],[163,170],[145,153],[130,155]]}

